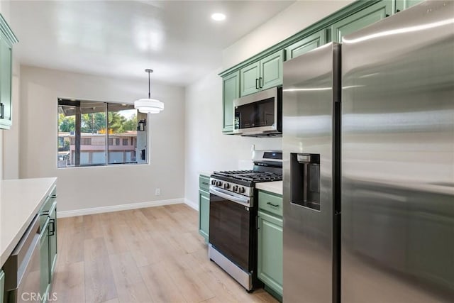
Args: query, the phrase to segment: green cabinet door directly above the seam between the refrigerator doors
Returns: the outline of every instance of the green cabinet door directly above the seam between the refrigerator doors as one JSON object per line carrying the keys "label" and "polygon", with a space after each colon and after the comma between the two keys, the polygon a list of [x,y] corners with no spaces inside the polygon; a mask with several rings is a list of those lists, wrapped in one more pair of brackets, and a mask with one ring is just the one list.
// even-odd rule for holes
{"label": "green cabinet door directly above the seam between the refrigerator doors", "polygon": [[341,43],[343,36],[370,26],[372,23],[380,21],[387,16],[391,16],[392,4],[393,0],[380,1],[337,21],[331,26],[331,40]]}

